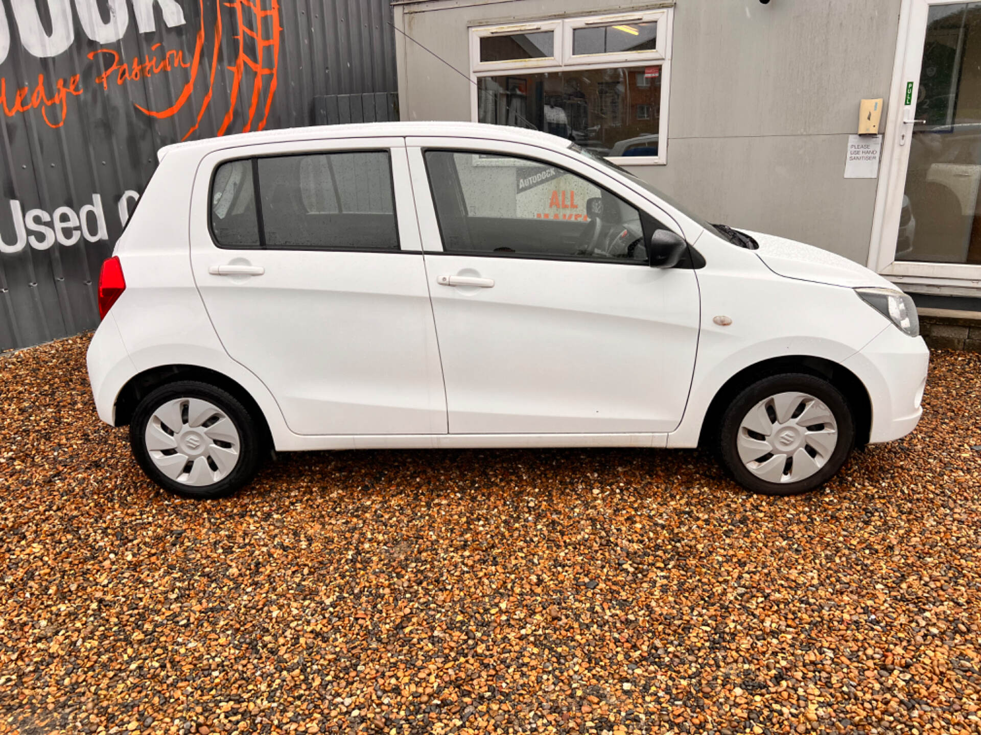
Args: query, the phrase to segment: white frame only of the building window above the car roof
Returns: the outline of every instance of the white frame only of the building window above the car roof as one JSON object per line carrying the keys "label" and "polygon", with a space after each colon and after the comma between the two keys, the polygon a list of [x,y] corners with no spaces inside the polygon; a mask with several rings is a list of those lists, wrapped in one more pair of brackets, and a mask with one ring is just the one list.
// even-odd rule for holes
{"label": "white frame only of the building window above the car roof", "polygon": [[[642,67],[660,67],[661,99],[660,118],[657,126],[657,156],[611,156],[609,161],[620,166],[664,166],[668,154],[668,100],[671,97],[671,37],[674,8],[636,13],[567,18],[560,21],[529,22],[511,25],[487,25],[470,28],[470,71],[474,84],[470,90],[471,120],[478,122],[477,80],[482,76],[506,73],[581,72],[590,69],[631,68],[631,73]],[[622,25],[629,23],[657,23],[657,48],[653,51],[627,51],[612,54],[572,53],[573,31],[576,28],[596,25]],[[552,48],[555,56],[545,59],[519,59],[505,62],[482,62],[481,38],[511,33],[531,33],[551,30],[555,34]]]}

